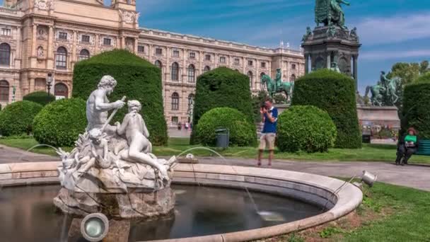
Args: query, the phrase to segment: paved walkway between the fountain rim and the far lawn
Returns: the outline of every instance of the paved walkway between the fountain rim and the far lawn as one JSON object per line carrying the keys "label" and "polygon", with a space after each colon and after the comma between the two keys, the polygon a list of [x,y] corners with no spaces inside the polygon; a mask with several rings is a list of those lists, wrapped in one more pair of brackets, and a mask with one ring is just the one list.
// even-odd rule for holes
{"label": "paved walkway between the fountain rim and the far lawn", "polygon": [[[23,158],[19,160],[20,158]],[[59,161],[59,158],[22,151],[0,145],[0,163],[16,163],[28,161]],[[211,163],[234,166],[255,166],[252,159],[222,159],[205,157],[199,158],[200,163]],[[263,163],[264,168],[268,166]],[[384,183],[403,185],[410,188],[430,191],[430,166],[395,166],[393,163],[383,162],[312,162],[312,161],[280,161],[275,160],[272,168],[290,171],[314,173],[335,177],[350,178],[361,175],[366,170],[378,175],[378,180]]]}

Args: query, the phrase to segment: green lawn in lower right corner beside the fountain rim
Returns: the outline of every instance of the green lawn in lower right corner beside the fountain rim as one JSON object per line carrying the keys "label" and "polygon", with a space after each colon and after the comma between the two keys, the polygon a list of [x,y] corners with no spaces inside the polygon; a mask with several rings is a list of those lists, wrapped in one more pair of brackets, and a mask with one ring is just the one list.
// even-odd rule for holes
{"label": "green lawn in lower right corner beside the fountain rim", "polygon": [[356,213],[316,229],[267,238],[280,241],[430,241],[430,192],[385,183],[364,188]]}

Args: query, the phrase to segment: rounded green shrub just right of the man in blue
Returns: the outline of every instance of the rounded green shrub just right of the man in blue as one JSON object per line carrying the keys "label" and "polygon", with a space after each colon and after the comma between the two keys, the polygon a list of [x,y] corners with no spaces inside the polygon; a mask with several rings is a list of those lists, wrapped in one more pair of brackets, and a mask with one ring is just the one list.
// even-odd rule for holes
{"label": "rounded green shrub just right of the man in blue", "polygon": [[337,129],[327,112],[314,106],[296,105],[278,118],[280,151],[324,152],[335,145]]}

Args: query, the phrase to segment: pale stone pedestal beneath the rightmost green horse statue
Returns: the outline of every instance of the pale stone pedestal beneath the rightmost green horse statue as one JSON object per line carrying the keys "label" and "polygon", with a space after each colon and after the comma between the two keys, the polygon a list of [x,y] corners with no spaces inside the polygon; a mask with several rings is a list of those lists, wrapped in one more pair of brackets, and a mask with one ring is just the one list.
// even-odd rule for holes
{"label": "pale stone pedestal beneath the rightmost green horse statue", "polygon": [[357,105],[357,114],[361,125],[370,124],[370,126],[379,125],[400,129],[400,119],[395,106]]}

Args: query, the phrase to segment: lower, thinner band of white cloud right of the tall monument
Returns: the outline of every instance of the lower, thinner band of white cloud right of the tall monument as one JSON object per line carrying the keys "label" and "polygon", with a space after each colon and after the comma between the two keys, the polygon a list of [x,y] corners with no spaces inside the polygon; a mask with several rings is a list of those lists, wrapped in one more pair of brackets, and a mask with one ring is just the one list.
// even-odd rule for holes
{"label": "lower, thinner band of white cloud right of the tall monument", "polygon": [[429,49],[424,50],[390,50],[390,51],[372,51],[372,52],[362,52],[360,54],[360,59],[404,59],[411,57],[429,57]]}

